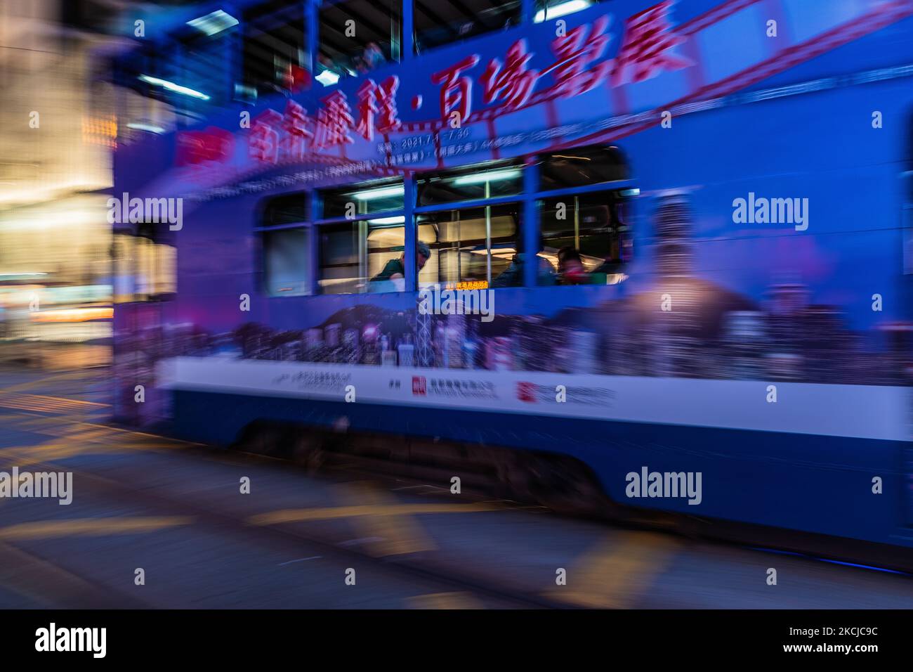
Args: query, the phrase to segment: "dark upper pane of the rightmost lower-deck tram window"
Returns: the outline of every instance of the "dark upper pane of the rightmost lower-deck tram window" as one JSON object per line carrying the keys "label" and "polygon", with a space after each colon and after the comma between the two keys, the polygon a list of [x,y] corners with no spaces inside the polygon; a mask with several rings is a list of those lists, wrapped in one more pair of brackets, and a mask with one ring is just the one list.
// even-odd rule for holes
{"label": "dark upper pane of the rightmost lower-deck tram window", "polygon": [[540,156],[540,191],[626,179],[630,171],[618,147],[581,147]]}

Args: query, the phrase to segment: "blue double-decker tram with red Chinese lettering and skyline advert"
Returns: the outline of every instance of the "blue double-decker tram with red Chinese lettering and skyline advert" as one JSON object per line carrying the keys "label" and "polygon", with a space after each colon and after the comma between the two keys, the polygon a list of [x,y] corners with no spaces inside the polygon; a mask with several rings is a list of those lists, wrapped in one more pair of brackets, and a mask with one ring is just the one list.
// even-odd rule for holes
{"label": "blue double-decker tram with red Chinese lettering and skyline advert", "polygon": [[913,546],[913,2],[149,24],[112,63],[121,421]]}

